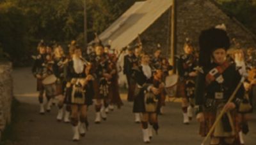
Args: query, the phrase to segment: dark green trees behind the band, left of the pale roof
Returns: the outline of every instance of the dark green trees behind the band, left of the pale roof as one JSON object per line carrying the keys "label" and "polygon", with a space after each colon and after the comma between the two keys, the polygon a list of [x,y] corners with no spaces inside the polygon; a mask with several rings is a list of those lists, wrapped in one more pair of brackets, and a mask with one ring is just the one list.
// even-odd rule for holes
{"label": "dark green trees behind the band, left of the pale roof", "polygon": [[[102,32],[135,0],[86,0],[88,41]],[[0,0],[0,43],[15,66],[31,62],[40,39],[83,43],[84,0]]]}

